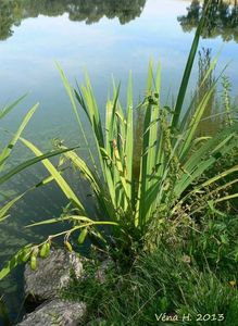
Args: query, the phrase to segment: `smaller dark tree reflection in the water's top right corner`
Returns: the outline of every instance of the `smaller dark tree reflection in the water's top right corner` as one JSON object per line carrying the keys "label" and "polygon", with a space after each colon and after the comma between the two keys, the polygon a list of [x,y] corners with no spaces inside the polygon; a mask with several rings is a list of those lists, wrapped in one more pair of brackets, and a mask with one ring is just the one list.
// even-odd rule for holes
{"label": "smaller dark tree reflection in the water's top right corner", "polygon": [[[192,0],[187,8],[187,15],[178,17],[184,32],[191,32],[198,26],[199,18],[209,0],[203,3]],[[224,41],[235,40],[238,42],[238,2],[225,0],[212,0],[210,13],[206,20],[202,36],[204,38],[215,38],[221,36]]]}

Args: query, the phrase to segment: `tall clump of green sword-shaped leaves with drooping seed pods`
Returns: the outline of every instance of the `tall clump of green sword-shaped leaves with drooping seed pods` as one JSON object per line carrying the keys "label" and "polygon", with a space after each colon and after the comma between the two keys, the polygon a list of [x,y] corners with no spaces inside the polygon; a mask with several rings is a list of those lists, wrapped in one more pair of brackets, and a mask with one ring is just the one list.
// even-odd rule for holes
{"label": "tall clump of green sword-shaped leaves with drooping seed pods", "polygon": [[[71,251],[70,237],[78,234],[78,242],[84,242],[87,236],[99,238],[99,242],[108,244],[114,256],[122,254],[124,261],[135,252],[137,247],[151,249],[158,244],[164,225],[178,221],[184,216],[192,216],[202,210],[195,206],[189,211],[186,204],[195,195],[206,196],[208,187],[217,180],[238,171],[234,165],[215,176],[203,178],[215,162],[237,147],[238,124],[233,123],[222,131],[209,137],[197,137],[197,128],[204,110],[214,93],[217,79],[212,80],[200,101],[192,99],[191,104],[184,114],[184,102],[193,65],[199,37],[204,23],[201,20],[185,68],[184,77],[174,108],[163,106],[160,101],[161,75],[160,66],[154,74],[152,62],[149,64],[146,96],[141,103],[135,105],[133,99],[133,82],[129,77],[127,105],[120,103],[120,85],[113,83],[113,97],[105,105],[105,126],[93,95],[90,79],[86,76],[86,85],[74,89],[60,70],[73,111],[88,146],[89,163],[76,151],[58,143],[64,160],[68,160],[75,168],[88,180],[98,208],[98,220],[88,212],[82,200],[76,196],[63,174],[47,159],[42,164],[70,201],[70,213],[60,218],[51,218],[32,226],[68,221],[73,223],[67,230],[49,238],[37,246],[29,246],[13,258],[14,266],[21,260],[30,259],[36,267],[36,258],[39,252],[50,246],[53,238],[64,236],[65,247]],[[201,82],[201,87],[210,78],[216,59]],[[82,122],[80,110],[85,113],[95,139],[95,148],[90,148],[87,133]],[[141,152],[139,173],[135,173],[135,111],[143,112]],[[41,151],[32,142],[21,138],[21,141],[30,149],[37,158]],[[223,185],[223,188],[226,184]],[[238,193],[216,197],[216,202],[237,198]],[[103,236],[98,226],[108,225],[110,230]],[[112,237],[111,237],[112,236]],[[45,256],[45,254],[42,254]],[[24,256],[24,259],[23,259]],[[0,277],[11,269],[10,264],[0,273]]]}

